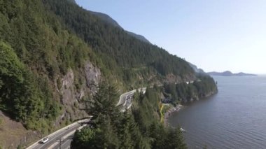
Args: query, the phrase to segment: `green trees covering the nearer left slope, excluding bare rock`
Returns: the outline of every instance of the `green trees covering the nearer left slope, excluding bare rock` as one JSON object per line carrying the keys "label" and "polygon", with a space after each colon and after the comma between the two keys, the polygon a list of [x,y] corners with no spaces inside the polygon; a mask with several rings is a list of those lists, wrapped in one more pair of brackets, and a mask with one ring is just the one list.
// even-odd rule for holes
{"label": "green trees covering the nearer left slope, excluding bare rock", "polygon": [[90,48],[41,1],[1,0],[0,20],[0,110],[29,129],[51,131],[62,109],[52,81],[93,57]]}

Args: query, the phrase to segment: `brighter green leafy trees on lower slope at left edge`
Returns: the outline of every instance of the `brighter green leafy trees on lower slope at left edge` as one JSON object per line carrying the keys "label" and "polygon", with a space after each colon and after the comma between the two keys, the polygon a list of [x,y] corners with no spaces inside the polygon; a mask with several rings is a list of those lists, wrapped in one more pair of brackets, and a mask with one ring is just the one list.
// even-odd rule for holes
{"label": "brighter green leafy trees on lower slope at left edge", "polygon": [[52,100],[45,80],[34,78],[14,50],[3,41],[0,41],[0,57],[1,110],[24,122],[30,129],[40,128],[37,121],[44,116],[50,120],[56,118],[59,105]]}

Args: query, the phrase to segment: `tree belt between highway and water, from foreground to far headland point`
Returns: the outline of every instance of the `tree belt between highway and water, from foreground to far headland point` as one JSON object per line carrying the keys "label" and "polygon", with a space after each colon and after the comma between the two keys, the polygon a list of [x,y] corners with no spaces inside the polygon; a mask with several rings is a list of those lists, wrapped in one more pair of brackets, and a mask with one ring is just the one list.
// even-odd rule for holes
{"label": "tree belt between highway and water, from foreground to far headland point", "polygon": [[71,148],[186,148],[179,128],[160,122],[160,108],[165,97],[170,99],[166,104],[176,106],[217,92],[213,78],[197,78],[193,83],[147,87],[145,94],[134,94],[132,108],[124,113],[116,106],[116,87],[99,85],[93,100],[86,101],[87,113],[93,116],[90,125],[76,132]]}

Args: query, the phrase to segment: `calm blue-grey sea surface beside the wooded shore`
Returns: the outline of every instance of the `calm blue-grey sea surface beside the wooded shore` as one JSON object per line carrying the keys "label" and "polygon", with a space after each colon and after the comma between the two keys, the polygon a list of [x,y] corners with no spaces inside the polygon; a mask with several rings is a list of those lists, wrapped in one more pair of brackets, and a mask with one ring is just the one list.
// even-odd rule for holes
{"label": "calm blue-grey sea surface beside the wooded shore", "polygon": [[266,76],[214,77],[218,94],[172,113],[189,148],[266,148]]}

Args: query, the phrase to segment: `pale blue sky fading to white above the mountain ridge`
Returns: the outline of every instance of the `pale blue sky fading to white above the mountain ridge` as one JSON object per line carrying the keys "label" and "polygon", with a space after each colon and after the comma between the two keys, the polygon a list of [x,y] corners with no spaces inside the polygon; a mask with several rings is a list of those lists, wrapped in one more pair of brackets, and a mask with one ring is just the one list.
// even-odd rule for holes
{"label": "pale blue sky fading to white above the mountain ridge", "polygon": [[76,0],[204,71],[266,73],[265,0]]}

